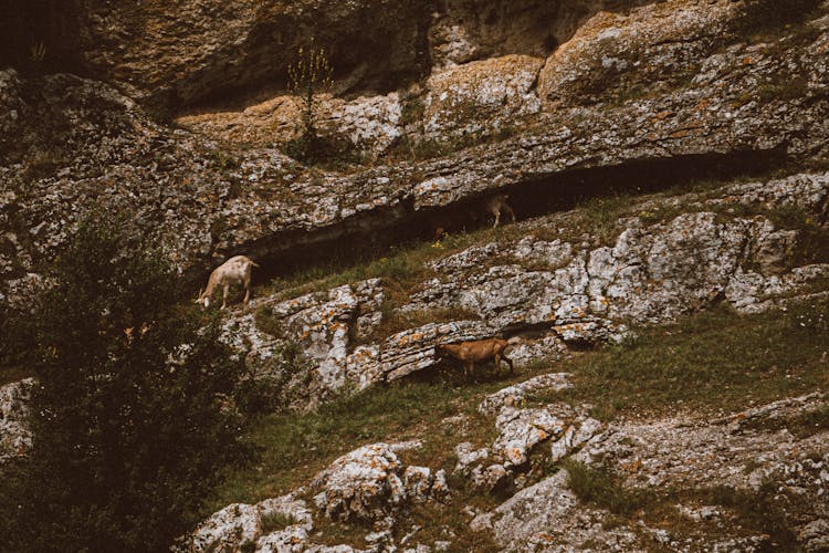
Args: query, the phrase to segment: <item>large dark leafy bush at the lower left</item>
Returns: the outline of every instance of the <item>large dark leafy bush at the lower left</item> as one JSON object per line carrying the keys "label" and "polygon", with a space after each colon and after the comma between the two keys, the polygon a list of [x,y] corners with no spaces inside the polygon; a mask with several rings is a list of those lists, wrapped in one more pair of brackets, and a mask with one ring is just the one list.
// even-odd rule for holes
{"label": "large dark leafy bush at the lower left", "polygon": [[162,551],[250,456],[217,400],[238,373],[218,320],[176,305],[156,248],[83,222],[35,310],[32,450],[0,483],[11,551]]}

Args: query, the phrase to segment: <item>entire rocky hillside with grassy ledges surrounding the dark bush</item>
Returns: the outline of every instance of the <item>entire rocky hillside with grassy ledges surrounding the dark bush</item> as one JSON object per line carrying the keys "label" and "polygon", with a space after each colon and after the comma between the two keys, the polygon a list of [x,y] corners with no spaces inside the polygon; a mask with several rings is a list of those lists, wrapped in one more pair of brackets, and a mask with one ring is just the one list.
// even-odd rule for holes
{"label": "entire rocky hillside with grassy ledges surrounding the dark bush", "polygon": [[[829,549],[828,2],[32,13],[0,67],[0,306],[94,210],[193,296],[262,265],[224,340],[281,410],[180,547]],[[336,147],[304,165],[312,36]],[[496,192],[518,220],[490,229]],[[489,337],[516,374],[436,352]],[[0,460],[31,385],[0,388]]]}

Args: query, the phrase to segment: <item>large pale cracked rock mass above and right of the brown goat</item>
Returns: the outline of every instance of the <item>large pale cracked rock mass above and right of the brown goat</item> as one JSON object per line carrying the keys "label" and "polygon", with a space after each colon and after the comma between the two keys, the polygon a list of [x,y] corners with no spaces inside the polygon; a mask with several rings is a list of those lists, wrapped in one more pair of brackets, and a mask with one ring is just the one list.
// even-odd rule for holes
{"label": "large pale cracked rock mass above and right of the brown goat", "polygon": [[[796,232],[759,216],[724,219],[706,207],[722,210],[727,198],[767,209],[796,205],[823,217],[828,195],[829,175],[799,175],[726,188],[665,222],[627,219],[612,247],[588,250],[532,237],[475,246],[433,263],[439,276],[405,309],[461,306],[495,327],[548,324],[565,342],[618,340],[626,328],[615,321],[671,321],[720,298],[741,311],[768,309],[775,302],[767,299],[807,289],[826,275],[826,265],[786,267]],[[518,264],[484,261],[494,254]],[[539,262],[553,269],[524,267]]]}

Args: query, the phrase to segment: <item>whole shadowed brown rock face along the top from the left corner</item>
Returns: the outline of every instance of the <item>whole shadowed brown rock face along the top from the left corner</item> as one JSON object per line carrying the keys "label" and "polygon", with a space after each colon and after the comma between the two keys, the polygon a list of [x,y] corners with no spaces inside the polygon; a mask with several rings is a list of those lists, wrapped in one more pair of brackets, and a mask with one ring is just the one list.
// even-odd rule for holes
{"label": "whole shadowed brown rock face along the top from the left corner", "polygon": [[342,90],[387,92],[432,64],[546,56],[597,10],[641,3],[36,0],[11,2],[0,30],[17,66],[32,65],[31,48],[43,42],[46,66],[82,69],[166,111],[283,87],[287,64],[312,38]]}

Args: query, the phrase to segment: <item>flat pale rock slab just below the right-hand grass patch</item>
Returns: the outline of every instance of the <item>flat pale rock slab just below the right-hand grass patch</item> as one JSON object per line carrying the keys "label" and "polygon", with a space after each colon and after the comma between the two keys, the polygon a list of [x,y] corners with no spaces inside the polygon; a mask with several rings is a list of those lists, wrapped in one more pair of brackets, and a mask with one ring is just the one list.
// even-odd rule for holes
{"label": "flat pale rock slab just below the right-hand grass patch", "polygon": [[[802,498],[821,504],[827,482],[821,461],[808,452],[829,455],[829,435],[797,438],[788,430],[764,431],[764,425],[787,414],[805,414],[825,405],[820,394],[775,401],[713,424],[690,426],[682,419],[647,424],[612,424],[576,455],[629,473],[631,486],[669,484],[703,488],[715,483],[758,488],[766,478],[804,487]],[[774,425],[770,425],[774,428]],[[812,456],[814,457],[814,456]],[[752,470],[743,470],[752,467]],[[823,490],[823,491],[821,491]],[[805,500],[805,499],[804,499]]]}

